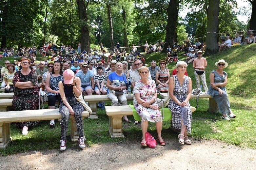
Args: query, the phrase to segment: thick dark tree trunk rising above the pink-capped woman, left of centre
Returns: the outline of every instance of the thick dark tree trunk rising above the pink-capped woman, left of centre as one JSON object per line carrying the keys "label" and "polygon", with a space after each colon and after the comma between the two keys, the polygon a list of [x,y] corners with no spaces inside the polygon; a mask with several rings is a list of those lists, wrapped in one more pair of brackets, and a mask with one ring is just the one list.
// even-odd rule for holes
{"label": "thick dark tree trunk rising above the pink-capped woman, left of centre", "polygon": [[90,42],[89,42],[89,26],[87,24],[88,18],[86,9],[89,5],[89,2],[86,2],[84,0],[76,0],[77,7],[78,7],[78,16],[80,20],[80,26],[81,26],[81,50],[86,50],[89,52],[90,50]]}

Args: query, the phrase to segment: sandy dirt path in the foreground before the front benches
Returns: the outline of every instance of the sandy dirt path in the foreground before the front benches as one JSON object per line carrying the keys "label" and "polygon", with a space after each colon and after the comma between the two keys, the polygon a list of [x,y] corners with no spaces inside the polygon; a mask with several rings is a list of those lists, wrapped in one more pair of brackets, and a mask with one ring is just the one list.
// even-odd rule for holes
{"label": "sandy dirt path in the foreground before the front benches", "polygon": [[[166,140],[166,146],[142,148],[134,139],[125,143],[108,143],[84,149],[67,148],[30,151],[0,157],[1,170],[30,169],[255,169],[256,150],[226,145],[219,141],[191,140],[180,145],[178,139]],[[232,158],[232,159],[229,159]]]}

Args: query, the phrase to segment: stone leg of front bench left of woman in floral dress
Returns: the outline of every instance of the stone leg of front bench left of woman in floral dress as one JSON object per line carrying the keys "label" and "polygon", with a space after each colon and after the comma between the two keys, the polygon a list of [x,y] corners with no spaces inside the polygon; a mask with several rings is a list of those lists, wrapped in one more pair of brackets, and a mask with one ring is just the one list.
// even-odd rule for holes
{"label": "stone leg of front bench left of woman in floral dress", "polygon": [[111,137],[125,137],[122,118],[123,116],[109,116],[109,133]]}

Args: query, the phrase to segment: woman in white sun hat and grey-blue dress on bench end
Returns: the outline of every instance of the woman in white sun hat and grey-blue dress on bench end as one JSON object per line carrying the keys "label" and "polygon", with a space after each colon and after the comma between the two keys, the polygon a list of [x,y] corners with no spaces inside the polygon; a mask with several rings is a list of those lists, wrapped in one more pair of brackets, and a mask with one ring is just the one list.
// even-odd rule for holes
{"label": "woman in white sun hat and grey-blue dress on bench end", "polygon": [[223,71],[223,69],[226,68],[228,64],[222,59],[216,62],[215,65],[217,69],[210,73],[210,86],[207,94],[212,95],[213,99],[217,102],[219,111],[222,113],[222,118],[230,120],[226,113],[228,113],[230,118],[235,118],[236,116],[230,109],[225,87],[227,84],[227,73]]}

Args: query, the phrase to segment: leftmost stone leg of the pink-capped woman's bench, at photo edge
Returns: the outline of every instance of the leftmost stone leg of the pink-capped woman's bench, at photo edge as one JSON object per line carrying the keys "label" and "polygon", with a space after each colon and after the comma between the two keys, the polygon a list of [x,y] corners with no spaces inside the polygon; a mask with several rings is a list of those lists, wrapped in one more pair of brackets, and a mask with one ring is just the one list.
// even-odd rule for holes
{"label": "leftmost stone leg of the pink-capped woman's bench, at photo edge", "polygon": [[10,141],[10,123],[0,123],[0,148],[6,148]]}

